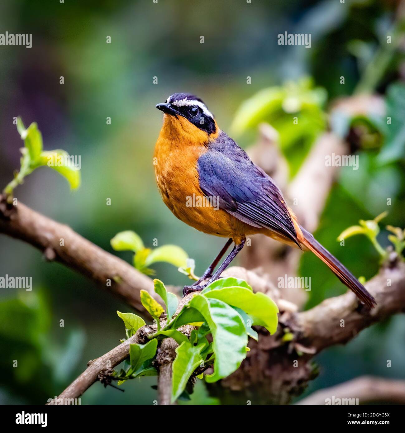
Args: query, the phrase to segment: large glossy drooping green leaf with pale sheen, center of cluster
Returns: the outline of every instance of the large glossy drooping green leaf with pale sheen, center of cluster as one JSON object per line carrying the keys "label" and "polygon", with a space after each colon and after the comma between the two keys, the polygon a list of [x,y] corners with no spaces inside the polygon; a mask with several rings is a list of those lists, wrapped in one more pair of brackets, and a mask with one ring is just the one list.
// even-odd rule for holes
{"label": "large glossy drooping green leaf with pale sheen, center of cluster", "polygon": [[229,376],[246,358],[248,338],[242,317],[225,302],[201,294],[191,299],[190,306],[204,316],[213,337],[214,373],[206,376],[207,382]]}

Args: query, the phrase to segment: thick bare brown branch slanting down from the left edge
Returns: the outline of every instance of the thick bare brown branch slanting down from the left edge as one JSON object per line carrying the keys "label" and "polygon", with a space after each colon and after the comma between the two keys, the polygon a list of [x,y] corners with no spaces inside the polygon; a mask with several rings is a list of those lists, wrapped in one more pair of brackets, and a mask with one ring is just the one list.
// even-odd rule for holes
{"label": "thick bare brown branch slanting down from the left edge", "polygon": [[20,202],[17,206],[10,205],[1,195],[0,233],[28,242],[41,250],[47,260],[63,263],[86,275],[139,311],[145,310],[139,297],[141,289],[155,296],[152,280],[133,266],[84,239],[65,224]]}

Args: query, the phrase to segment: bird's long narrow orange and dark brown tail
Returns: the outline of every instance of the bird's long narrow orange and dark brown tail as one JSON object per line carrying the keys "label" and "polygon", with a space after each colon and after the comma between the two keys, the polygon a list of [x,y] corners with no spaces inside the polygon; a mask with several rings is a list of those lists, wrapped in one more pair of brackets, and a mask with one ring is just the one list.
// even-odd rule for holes
{"label": "bird's long narrow orange and dark brown tail", "polygon": [[330,270],[337,276],[337,278],[342,281],[350,290],[352,290],[356,296],[364,304],[368,305],[370,308],[376,306],[376,300],[369,294],[363,284],[360,284],[359,280],[347,269],[345,268],[339,260],[336,259],[330,252],[324,248],[311,233],[307,232],[304,228],[300,226],[302,232],[302,238],[300,242],[311,250],[322,262],[330,268]]}

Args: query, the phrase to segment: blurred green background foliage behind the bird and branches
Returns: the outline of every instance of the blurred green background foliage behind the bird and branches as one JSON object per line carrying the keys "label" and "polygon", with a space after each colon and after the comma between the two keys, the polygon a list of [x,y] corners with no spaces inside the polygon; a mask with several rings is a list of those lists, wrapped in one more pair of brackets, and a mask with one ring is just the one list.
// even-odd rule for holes
{"label": "blurred green background foliage behind the bird and branches", "polygon": [[[257,123],[269,121],[280,132],[293,176],[318,134],[332,124],[328,113],[339,97],[359,88],[376,92],[403,124],[399,10],[393,0],[4,0],[0,32],[32,33],[32,48],[0,46],[0,186],[19,168],[22,142],[13,117],[22,116],[26,126],[36,121],[46,150],[81,155],[82,185],[71,192],[61,176],[39,168],[16,189],[19,200],[110,252],[110,239],[127,229],[146,246],[153,239],[159,246],[177,244],[195,259],[201,274],[223,240],[185,226],[160,199],[152,154],[162,116],[155,104],[175,92],[197,94],[221,129],[230,132],[243,101],[262,89],[284,86],[275,87],[276,95],[265,95],[267,108],[250,112],[252,121],[234,138],[247,147],[255,142]],[[311,33],[311,49],[277,45],[277,35],[285,31]],[[397,37],[387,47],[389,31]],[[65,84],[59,84],[61,76]],[[248,76],[251,84],[246,84]],[[283,122],[285,116],[291,118],[283,103],[291,95],[301,101],[301,114],[308,111],[297,136]],[[356,237],[347,241],[350,248],[340,249],[336,238],[360,218],[387,210],[387,197],[392,206],[383,225],[405,226],[404,131],[387,129],[385,119],[338,122],[343,136],[355,135],[350,143],[360,155],[360,168],[341,171],[315,233],[342,262],[350,263],[356,276],[366,278],[378,269],[371,244]],[[107,197],[111,206],[106,206]],[[379,240],[388,245],[386,231]],[[113,253],[132,259],[130,253]],[[81,275],[45,263],[23,242],[1,235],[0,257],[1,276],[32,276],[34,286],[32,292],[0,293],[0,402],[42,404],[83,371],[89,359],[117,345],[124,327],[115,311],[130,308]],[[189,281],[171,265],[153,268],[166,284]],[[307,307],[345,291],[310,255],[301,260],[301,274],[312,276]],[[62,319],[64,327],[59,326]],[[308,392],[363,374],[405,378],[404,341],[405,321],[394,317],[345,347],[328,349],[317,359],[321,374]],[[12,367],[13,359],[18,368]],[[386,367],[387,359],[392,368]],[[152,385],[156,378],[127,381],[122,393],[97,383],[82,404],[153,404]],[[195,398],[213,402],[201,388]]]}

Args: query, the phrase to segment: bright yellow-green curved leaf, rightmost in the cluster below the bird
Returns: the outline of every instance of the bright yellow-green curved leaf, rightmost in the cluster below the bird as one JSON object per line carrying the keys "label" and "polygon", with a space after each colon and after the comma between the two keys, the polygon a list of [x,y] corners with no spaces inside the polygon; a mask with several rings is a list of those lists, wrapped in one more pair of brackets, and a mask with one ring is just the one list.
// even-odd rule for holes
{"label": "bright yellow-green curved leaf, rightmost in the cluster below the bird", "polygon": [[226,287],[211,290],[204,295],[241,308],[252,317],[253,325],[264,326],[270,334],[274,334],[277,330],[279,309],[264,293],[253,293],[244,287]]}

